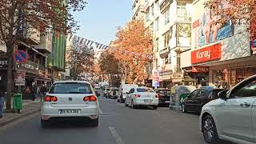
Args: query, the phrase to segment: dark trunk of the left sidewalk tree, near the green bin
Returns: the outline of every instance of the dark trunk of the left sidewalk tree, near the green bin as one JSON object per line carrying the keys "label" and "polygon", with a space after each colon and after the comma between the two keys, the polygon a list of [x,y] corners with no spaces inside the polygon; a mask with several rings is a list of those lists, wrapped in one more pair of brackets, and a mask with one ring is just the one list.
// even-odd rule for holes
{"label": "dark trunk of the left sidewalk tree, near the green bin", "polygon": [[13,92],[13,68],[14,68],[14,44],[7,44],[7,56],[9,58],[8,61],[8,67],[7,67],[7,87],[6,87],[6,109],[11,110],[11,97],[12,97],[12,92]]}

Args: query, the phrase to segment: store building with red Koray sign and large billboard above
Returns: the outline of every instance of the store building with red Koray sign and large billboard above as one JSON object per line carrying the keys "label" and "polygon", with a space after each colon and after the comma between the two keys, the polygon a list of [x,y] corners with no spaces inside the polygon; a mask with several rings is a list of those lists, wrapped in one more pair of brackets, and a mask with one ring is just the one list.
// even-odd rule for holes
{"label": "store building with red Koray sign and large billboard above", "polygon": [[[192,47],[182,53],[187,83],[230,88],[256,74],[255,41],[245,25],[214,24],[205,0],[193,2]],[[252,41],[252,42],[251,42]]]}

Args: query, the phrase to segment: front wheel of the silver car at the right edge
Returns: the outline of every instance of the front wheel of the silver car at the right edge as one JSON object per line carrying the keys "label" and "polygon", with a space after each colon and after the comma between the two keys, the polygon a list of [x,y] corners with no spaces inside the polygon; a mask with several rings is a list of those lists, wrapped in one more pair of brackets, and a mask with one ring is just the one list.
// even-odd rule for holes
{"label": "front wheel of the silver car at the right edge", "polygon": [[207,143],[214,144],[219,142],[214,118],[210,115],[206,115],[206,117],[202,118],[202,134]]}

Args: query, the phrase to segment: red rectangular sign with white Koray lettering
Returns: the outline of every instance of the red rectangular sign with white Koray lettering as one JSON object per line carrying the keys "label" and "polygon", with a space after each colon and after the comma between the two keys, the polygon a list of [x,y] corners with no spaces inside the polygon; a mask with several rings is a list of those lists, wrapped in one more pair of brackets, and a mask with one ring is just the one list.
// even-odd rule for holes
{"label": "red rectangular sign with white Koray lettering", "polygon": [[221,44],[207,46],[191,52],[191,63],[207,62],[222,58]]}

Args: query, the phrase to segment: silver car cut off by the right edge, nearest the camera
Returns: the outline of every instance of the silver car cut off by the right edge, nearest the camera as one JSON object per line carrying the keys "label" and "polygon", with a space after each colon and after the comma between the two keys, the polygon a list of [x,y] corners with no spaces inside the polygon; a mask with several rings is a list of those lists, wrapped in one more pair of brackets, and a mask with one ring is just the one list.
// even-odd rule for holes
{"label": "silver car cut off by the right edge, nearest the camera", "polygon": [[199,120],[205,141],[256,143],[256,75],[218,96],[202,107]]}

